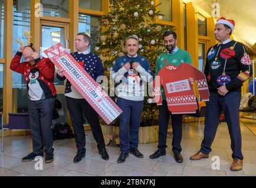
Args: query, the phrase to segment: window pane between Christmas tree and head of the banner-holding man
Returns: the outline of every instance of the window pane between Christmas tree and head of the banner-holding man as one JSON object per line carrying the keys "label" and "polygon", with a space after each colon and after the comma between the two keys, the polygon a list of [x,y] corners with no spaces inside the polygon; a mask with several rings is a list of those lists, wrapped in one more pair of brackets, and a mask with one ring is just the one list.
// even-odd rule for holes
{"label": "window pane between Christmas tree and head of the banner-holding man", "polygon": [[[94,52],[94,44],[97,41],[98,36],[96,36],[94,33],[99,28],[100,18],[96,16],[88,16],[79,14],[79,32],[86,33],[91,37],[91,45],[90,45],[90,51]],[[91,48],[92,46],[92,48]]]}

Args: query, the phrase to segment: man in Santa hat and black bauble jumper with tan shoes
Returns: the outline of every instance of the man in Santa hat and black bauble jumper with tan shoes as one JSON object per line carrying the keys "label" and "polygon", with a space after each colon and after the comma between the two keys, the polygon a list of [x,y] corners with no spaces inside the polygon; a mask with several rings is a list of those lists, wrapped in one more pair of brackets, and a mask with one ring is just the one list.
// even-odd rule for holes
{"label": "man in Santa hat and black bauble jumper with tan shoes", "polygon": [[212,151],[219,116],[223,111],[231,138],[233,163],[231,171],[242,170],[242,140],[239,126],[241,86],[252,75],[250,56],[242,43],[230,39],[235,22],[224,17],[215,24],[215,38],[219,43],[208,49],[205,76],[210,91],[206,103],[204,140],[198,153],[191,160],[208,158]]}

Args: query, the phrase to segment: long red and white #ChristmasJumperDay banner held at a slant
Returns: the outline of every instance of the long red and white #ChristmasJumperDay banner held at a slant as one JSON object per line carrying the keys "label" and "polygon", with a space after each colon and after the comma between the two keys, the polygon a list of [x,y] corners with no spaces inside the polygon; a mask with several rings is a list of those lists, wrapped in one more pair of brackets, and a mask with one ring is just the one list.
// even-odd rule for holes
{"label": "long red and white #ChristmasJumperDay banner held at a slant", "polygon": [[99,83],[82,68],[82,66],[58,43],[44,51],[58,69],[64,69],[64,76],[81,93],[84,99],[109,125],[122,110],[100,87]]}

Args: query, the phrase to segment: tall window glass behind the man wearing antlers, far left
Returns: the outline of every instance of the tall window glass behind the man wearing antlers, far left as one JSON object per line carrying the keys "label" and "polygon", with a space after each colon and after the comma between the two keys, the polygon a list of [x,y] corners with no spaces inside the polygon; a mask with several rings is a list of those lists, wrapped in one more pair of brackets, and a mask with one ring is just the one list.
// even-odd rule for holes
{"label": "tall window glass behind the man wearing antlers, far left", "polygon": [[[21,39],[24,45],[27,45],[25,31],[30,31],[30,2],[26,1],[20,4],[20,1],[14,1],[14,29],[13,29],[13,51],[12,55],[18,51],[20,44],[14,39]],[[25,61],[22,57],[21,61]],[[13,112],[28,112],[28,91],[24,76],[20,73],[12,72],[12,102]]]}

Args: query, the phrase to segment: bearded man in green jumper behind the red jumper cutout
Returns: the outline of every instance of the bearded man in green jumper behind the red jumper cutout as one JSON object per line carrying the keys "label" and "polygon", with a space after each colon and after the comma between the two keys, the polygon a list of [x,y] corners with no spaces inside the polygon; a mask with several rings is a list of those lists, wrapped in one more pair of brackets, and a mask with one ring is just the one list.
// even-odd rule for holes
{"label": "bearded man in green jumper behind the red jumper cutout", "polygon": [[[166,65],[172,66],[179,66],[180,63],[190,63],[191,56],[188,52],[179,49],[177,44],[177,35],[173,31],[166,31],[163,33],[163,43],[166,46],[168,52],[161,53],[156,60],[156,73],[159,72],[160,69],[164,68]],[[171,76],[171,75],[170,75]],[[189,78],[189,82],[194,83],[193,78]],[[183,162],[183,157],[180,155],[182,150],[180,146],[180,142],[182,139],[182,115],[172,113],[168,110],[168,105],[166,102],[165,91],[161,87],[162,92],[162,105],[159,106],[159,143],[158,143],[158,150],[150,155],[150,159],[156,159],[160,156],[166,155],[166,137],[167,137],[167,130],[168,130],[168,122],[170,115],[172,117],[172,132],[173,132],[173,139],[172,139],[172,152],[174,153],[175,160],[178,163]]]}

